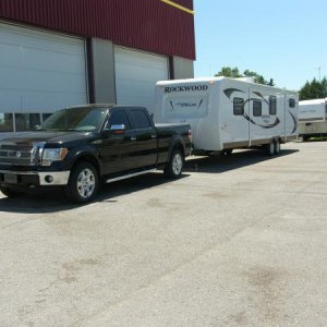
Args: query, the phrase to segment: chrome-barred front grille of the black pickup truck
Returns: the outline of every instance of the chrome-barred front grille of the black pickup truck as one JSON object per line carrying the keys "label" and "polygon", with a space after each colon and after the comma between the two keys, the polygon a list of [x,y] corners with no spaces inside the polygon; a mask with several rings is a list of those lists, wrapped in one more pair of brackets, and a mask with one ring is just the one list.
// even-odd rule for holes
{"label": "chrome-barred front grille of the black pickup truck", "polygon": [[35,165],[36,148],[31,144],[0,143],[0,165]]}

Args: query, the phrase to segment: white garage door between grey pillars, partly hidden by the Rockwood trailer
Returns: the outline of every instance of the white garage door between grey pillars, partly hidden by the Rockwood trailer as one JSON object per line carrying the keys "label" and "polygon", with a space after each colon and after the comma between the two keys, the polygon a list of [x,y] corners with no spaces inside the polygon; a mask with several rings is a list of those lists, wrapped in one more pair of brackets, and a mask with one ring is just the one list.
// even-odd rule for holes
{"label": "white garage door between grey pillars, partly hidden by the Rockwood trailer", "polygon": [[167,57],[116,47],[114,69],[117,102],[153,112],[156,82],[169,77]]}

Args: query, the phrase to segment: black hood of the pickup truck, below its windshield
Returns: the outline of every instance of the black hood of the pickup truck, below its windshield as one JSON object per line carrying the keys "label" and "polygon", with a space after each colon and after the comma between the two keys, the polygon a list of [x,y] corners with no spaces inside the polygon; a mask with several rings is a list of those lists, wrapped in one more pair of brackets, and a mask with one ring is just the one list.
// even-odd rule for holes
{"label": "black hood of the pickup truck, below its windshield", "polygon": [[47,143],[66,143],[78,140],[89,140],[93,138],[94,134],[89,132],[21,132],[14,133],[11,136],[7,136],[0,140],[0,143],[36,143],[36,142],[47,142]]}

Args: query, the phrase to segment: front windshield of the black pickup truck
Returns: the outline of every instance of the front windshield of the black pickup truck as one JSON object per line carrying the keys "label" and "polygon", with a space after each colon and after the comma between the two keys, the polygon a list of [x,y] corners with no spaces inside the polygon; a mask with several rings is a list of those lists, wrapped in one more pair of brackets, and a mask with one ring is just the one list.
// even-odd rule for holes
{"label": "front windshield of the black pickup truck", "polygon": [[106,108],[81,107],[62,109],[50,116],[38,130],[41,131],[99,131],[107,114]]}

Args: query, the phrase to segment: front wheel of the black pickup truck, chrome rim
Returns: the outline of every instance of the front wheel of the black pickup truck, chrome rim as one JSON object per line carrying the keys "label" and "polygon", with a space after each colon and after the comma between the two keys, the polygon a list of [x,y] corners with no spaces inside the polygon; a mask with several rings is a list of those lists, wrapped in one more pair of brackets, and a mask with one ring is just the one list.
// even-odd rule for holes
{"label": "front wheel of the black pickup truck, chrome rim", "polygon": [[71,173],[65,189],[66,196],[75,203],[93,201],[99,189],[99,177],[92,164],[80,162]]}

